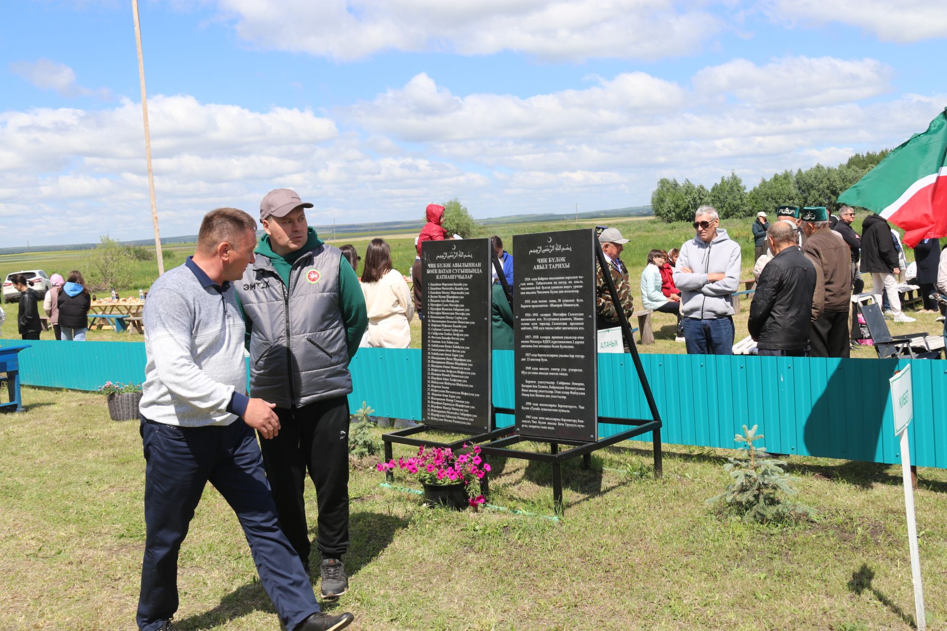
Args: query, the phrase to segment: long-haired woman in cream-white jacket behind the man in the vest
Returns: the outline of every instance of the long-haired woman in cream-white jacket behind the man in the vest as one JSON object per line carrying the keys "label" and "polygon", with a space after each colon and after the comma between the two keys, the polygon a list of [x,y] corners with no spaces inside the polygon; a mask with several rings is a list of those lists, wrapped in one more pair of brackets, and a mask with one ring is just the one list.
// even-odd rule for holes
{"label": "long-haired woman in cream-white jacket behind the man in the vest", "polygon": [[367,346],[407,348],[411,345],[414,303],[401,272],[391,268],[391,250],[382,238],[373,238],[365,253],[362,292],[368,311]]}

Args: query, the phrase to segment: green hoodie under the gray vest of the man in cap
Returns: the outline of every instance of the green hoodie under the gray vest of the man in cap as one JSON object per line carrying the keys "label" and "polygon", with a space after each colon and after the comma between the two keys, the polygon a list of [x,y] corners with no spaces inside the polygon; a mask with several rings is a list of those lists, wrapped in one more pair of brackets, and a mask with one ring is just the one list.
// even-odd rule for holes
{"label": "green hoodie under the gray vest of the man in cap", "polygon": [[[277,274],[279,274],[283,285],[289,287],[290,270],[293,269],[293,264],[300,256],[307,252],[312,252],[322,244],[322,239],[315,234],[315,229],[310,226],[309,238],[306,240],[306,245],[295,252],[291,252],[285,256],[280,256],[273,252],[269,235],[260,237],[255,252],[270,259],[270,264],[273,266],[273,269],[276,270]],[[237,303],[240,304],[240,297],[237,298]],[[342,310],[342,322],[346,325],[348,359],[351,359],[355,357],[358,345],[362,342],[362,336],[365,334],[365,329],[368,326],[368,314],[365,308],[365,295],[362,293],[362,287],[359,285],[358,276],[355,275],[355,271],[352,270],[345,256],[342,256],[339,261],[339,307]],[[241,305],[241,312],[242,309],[243,306]],[[243,320],[246,322],[246,343],[248,345],[247,347],[249,347],[252,324],[246,320],[246,317],[244,317]]]}

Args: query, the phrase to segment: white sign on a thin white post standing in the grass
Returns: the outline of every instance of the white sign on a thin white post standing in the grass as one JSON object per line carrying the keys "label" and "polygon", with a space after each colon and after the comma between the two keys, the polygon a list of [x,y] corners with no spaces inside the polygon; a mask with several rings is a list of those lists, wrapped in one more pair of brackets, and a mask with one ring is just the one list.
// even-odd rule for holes
{"label": "white sign on a thin white post standing in the grass", "polygon": [[904,512],[907,516],[907,544],[911,553],[911,579],[914,582],[914,611],[918,631],[924,631],[924,590],[920,585],[920,552],[918,525],[914,519],[914,484],[911,480],[911,449],[907,427],[914,418],[914,397],[911,391],[911,365],[888,379],[891,384],[891,407],[894,411],[894,432],[901,438],[901,471],[904,478]]}

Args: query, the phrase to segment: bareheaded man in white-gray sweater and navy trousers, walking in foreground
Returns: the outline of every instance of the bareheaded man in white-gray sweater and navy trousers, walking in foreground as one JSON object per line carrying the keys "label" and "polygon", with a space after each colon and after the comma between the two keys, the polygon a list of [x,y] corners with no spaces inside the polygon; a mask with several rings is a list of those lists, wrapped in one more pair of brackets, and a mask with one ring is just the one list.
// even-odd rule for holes
{"label": "bareheaded man in white-gray sweater and navy trousers, walking in foreground", "polygon": [[219,208],[201,223],[197,252],[158,278],[145,304],[145,555],[137,624],[167,631],[178,607],[177,556],[206,482],[240,518],[259,578],[292,631],[342,629],[323,613],[279,528],[253,429],[276,436],[273,404],[246,394],[244,325],[232,281],[254,260],[256,222]]}

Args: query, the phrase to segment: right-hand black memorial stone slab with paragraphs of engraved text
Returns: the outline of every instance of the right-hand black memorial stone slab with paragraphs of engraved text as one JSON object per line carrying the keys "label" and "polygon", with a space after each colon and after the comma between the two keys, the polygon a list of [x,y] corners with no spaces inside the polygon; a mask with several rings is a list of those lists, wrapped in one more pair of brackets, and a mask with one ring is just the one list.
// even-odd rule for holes
{"label": "right-hand black memorial stone slab with paragraphs of engraved text", "polygon": [[595,231],[515,235],[516,429],[599,438]]}

